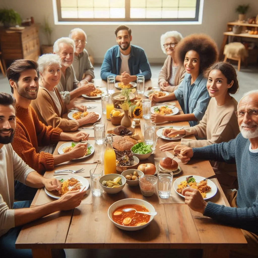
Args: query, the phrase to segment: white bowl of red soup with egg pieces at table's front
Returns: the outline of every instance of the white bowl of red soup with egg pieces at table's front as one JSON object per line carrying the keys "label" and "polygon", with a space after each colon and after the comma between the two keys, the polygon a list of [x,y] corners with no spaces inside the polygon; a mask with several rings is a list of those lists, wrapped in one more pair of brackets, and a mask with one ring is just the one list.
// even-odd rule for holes
{"label": "white bowl of red soup with egg pieces at table's front", "polygon": [[135,211],[124,212],[123,209],[133,208],[136,211],[155,212],[155,208],[147,201],[141,199],[122,199],[110,205],[108,217],[112,223],[123,230],[135,231],[147,227],[154,216],[136,213]]}

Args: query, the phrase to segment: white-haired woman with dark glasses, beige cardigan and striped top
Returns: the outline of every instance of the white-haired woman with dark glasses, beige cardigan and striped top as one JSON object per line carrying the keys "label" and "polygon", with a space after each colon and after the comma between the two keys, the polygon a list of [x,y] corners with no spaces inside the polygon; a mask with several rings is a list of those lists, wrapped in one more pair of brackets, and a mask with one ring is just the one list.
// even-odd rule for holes
{"label": "white-haired woman with dark glasses, beige cardigan and striped top", "polygon": [[182,39],[178,31],[167,31],[160,37],[160,45],[167,59],[159,72],[158,84],[164,91],[174,92],[182,82],[186,70],[175,58],[175,48]]}

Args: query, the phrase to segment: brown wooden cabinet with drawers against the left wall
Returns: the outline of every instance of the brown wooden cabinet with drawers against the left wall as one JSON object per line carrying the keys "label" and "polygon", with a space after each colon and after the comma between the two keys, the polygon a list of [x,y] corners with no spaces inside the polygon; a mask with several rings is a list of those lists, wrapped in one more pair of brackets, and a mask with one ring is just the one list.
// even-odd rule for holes
{"label": "brown wooden cabinet with drawers against the left wall", "polygon": [[0,30],[0,43],[4,69],[6,60],[33,59],[38,60],[40,45],[38,27],[31,25],[23,30]]}

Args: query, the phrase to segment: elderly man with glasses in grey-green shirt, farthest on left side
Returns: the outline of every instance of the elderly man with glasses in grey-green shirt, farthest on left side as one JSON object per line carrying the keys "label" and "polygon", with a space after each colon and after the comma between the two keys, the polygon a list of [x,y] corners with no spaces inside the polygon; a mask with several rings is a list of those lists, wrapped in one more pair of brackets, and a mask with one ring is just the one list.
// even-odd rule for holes
{"label": "elderly man with glasses in grey-green shirt, farthest on left side", "polygon": [[75,76],[78,81],[84,79],[90,82],[95,77],[94,68],[89,59],[88,52],[84,48],[87,43],[86,33],[80,28],[75,28],[70,31],[69,38],[75,43],[74,61],[72,62]]}

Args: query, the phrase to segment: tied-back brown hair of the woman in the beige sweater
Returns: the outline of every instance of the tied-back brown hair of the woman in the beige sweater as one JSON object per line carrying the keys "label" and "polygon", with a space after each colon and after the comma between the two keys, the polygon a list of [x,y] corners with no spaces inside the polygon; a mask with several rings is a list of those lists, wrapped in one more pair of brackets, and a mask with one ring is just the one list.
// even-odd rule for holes
{"label": "tied-back brown hair of the woman in the beige sweater", "polygon": [[227,83],[230,84],[232,80],[234,81],[231,88],[228,89],[228,93],[235,94],[238,91],[239,84],[237,80],[236,69],[228,62],[216,62],[212,64],[209,68],[204,71],[204,77],[208,78],[209,73],[212,70],[219,70],[227,78]]}

